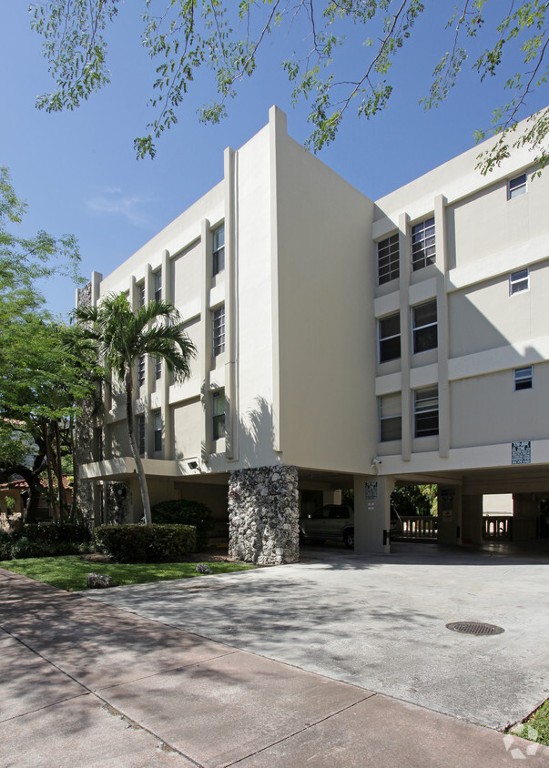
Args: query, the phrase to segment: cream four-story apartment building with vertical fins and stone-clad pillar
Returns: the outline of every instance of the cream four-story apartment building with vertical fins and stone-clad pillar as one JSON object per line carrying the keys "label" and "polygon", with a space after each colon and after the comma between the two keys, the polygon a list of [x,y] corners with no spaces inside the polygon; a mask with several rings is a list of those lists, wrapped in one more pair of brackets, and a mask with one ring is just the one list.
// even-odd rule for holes
{"label": "cream four-story apartment building with vertical fins and stone-clad pillar", "polygon": [[[521,149],[483,177],[482,148],[374,202],[273,107],[226,150],[217,187],[93,274],[80,301],[168,298],[198,348],[184,384],[137,366],[153,503],[204,501],[225,531],[229,503],[233,551],[259,561],[296,556],[296,483],[303,510],[354,487],[357,551],[388,551],[395,480],[439,483],[439,541],[480,541],[483,493],[503,492],[534,537],[549,496],[549,175],[532,178]],[[138,520],[121,392],[88,437],[96,520],[113,482]],[[266,554],[274,518],[286,533]]]}

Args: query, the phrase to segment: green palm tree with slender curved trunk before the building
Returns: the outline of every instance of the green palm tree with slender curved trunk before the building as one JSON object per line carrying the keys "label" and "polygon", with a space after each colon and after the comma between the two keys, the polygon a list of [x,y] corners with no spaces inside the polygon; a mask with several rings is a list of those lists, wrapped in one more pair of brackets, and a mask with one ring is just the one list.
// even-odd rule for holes
{"label": "green palm tree with slender curved trunk before the building", "polygon": [[129,444],[136,461],[145,524],[150,525],[147,480],[134,433],[133,370],[139,358],[154,355],[166,361],[176,380],[188,379],[197,349],[183,329],[178,310],[168,301],[150,301],[134,313],[125,293],[108,294],[98,307],[76,308],[74,316],[84,339],[93,343],[99,363],[112,371],[126,390]]}

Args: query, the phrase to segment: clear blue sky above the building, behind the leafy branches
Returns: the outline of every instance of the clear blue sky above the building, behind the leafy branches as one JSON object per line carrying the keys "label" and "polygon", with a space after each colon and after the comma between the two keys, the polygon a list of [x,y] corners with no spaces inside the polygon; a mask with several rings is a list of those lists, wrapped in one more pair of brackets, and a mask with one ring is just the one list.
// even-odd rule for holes
{"label": "clear blue sky above the building, behind the leafy branches", "polygon": [[[5,0],[0,8],[0,165],[10,169],[16,192],[28,204],[21,234],[38,228],[54,235],[74,233],[86,278],[93,269],[107,275],[217,184],[224,148],[238,149],[264,126],[272,104],[288,114],[290,136],[304,142],[310,132],[306,105],[291,106],[290,86],[280,70],[282,47],[292,41],[271,35],[258,72],[230,101],[228,118],[218,126],[198,123],[196,110],[212,93],[208,77],[201,76],[183,104],[178,126],[158,142],[157,157],[137,160],[133,139],[153,118],[147,106],[152,70],[137,37],[140,5],[137,0],[122,5],[109,33],[111,86],[61,115],[46,115],[34,106],[52,80],[25,2]],[[444,23],[453,2],[427,0],[426,5],[428,14],[413,31],[414,44],[399,53],[392,67],[390,105],[369,122],[350,112],[336,141],[319,155],[373,199],[473,147],[474,130],[488,127],[492,109],[503,103],[505,72],[480,84],[466,65],[450,99],[423,111],[419,99],[452,44]],[[477,45],[487,43],[479,40]],[[368,53],[354,45],[345,53],[345,64],[356,70]],[[521,116],[543,106],[546,93],[538,93]],[[55,313],[66,315],[74,306],[75,287],[68,280],[50,281],[44,293]]]}

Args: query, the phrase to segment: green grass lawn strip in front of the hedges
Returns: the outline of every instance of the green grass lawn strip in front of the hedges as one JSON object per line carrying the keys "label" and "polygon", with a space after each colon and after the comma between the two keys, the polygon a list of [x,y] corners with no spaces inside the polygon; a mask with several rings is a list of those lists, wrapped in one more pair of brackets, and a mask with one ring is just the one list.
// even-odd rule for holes
{"label": "green grass lawn strip in front of the hedges", "polygon": [[[213,573],[247,571],[254,567],[241,562],[207,564]],[[0,568],[5,568],[6,571],[21,573],[30,579],[44,581],[66,591],[85,590],[88,573],[107,573],[112,576],[113,586],[120,586],[202,576],[197,573],[196,567],[196,562],[90,562],[80,560],[78,555],[0,561]]]}

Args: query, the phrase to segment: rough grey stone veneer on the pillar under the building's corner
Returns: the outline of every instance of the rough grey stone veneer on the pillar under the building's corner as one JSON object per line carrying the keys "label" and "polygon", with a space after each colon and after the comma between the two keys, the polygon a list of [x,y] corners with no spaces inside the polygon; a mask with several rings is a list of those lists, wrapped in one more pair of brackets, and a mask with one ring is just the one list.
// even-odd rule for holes
{"label": "rough grey stone veneer on the pillar under the building's corner", "polygon": [[258,565],[300,559],[298,470],[259,467],[231,472],[229,556]]}

